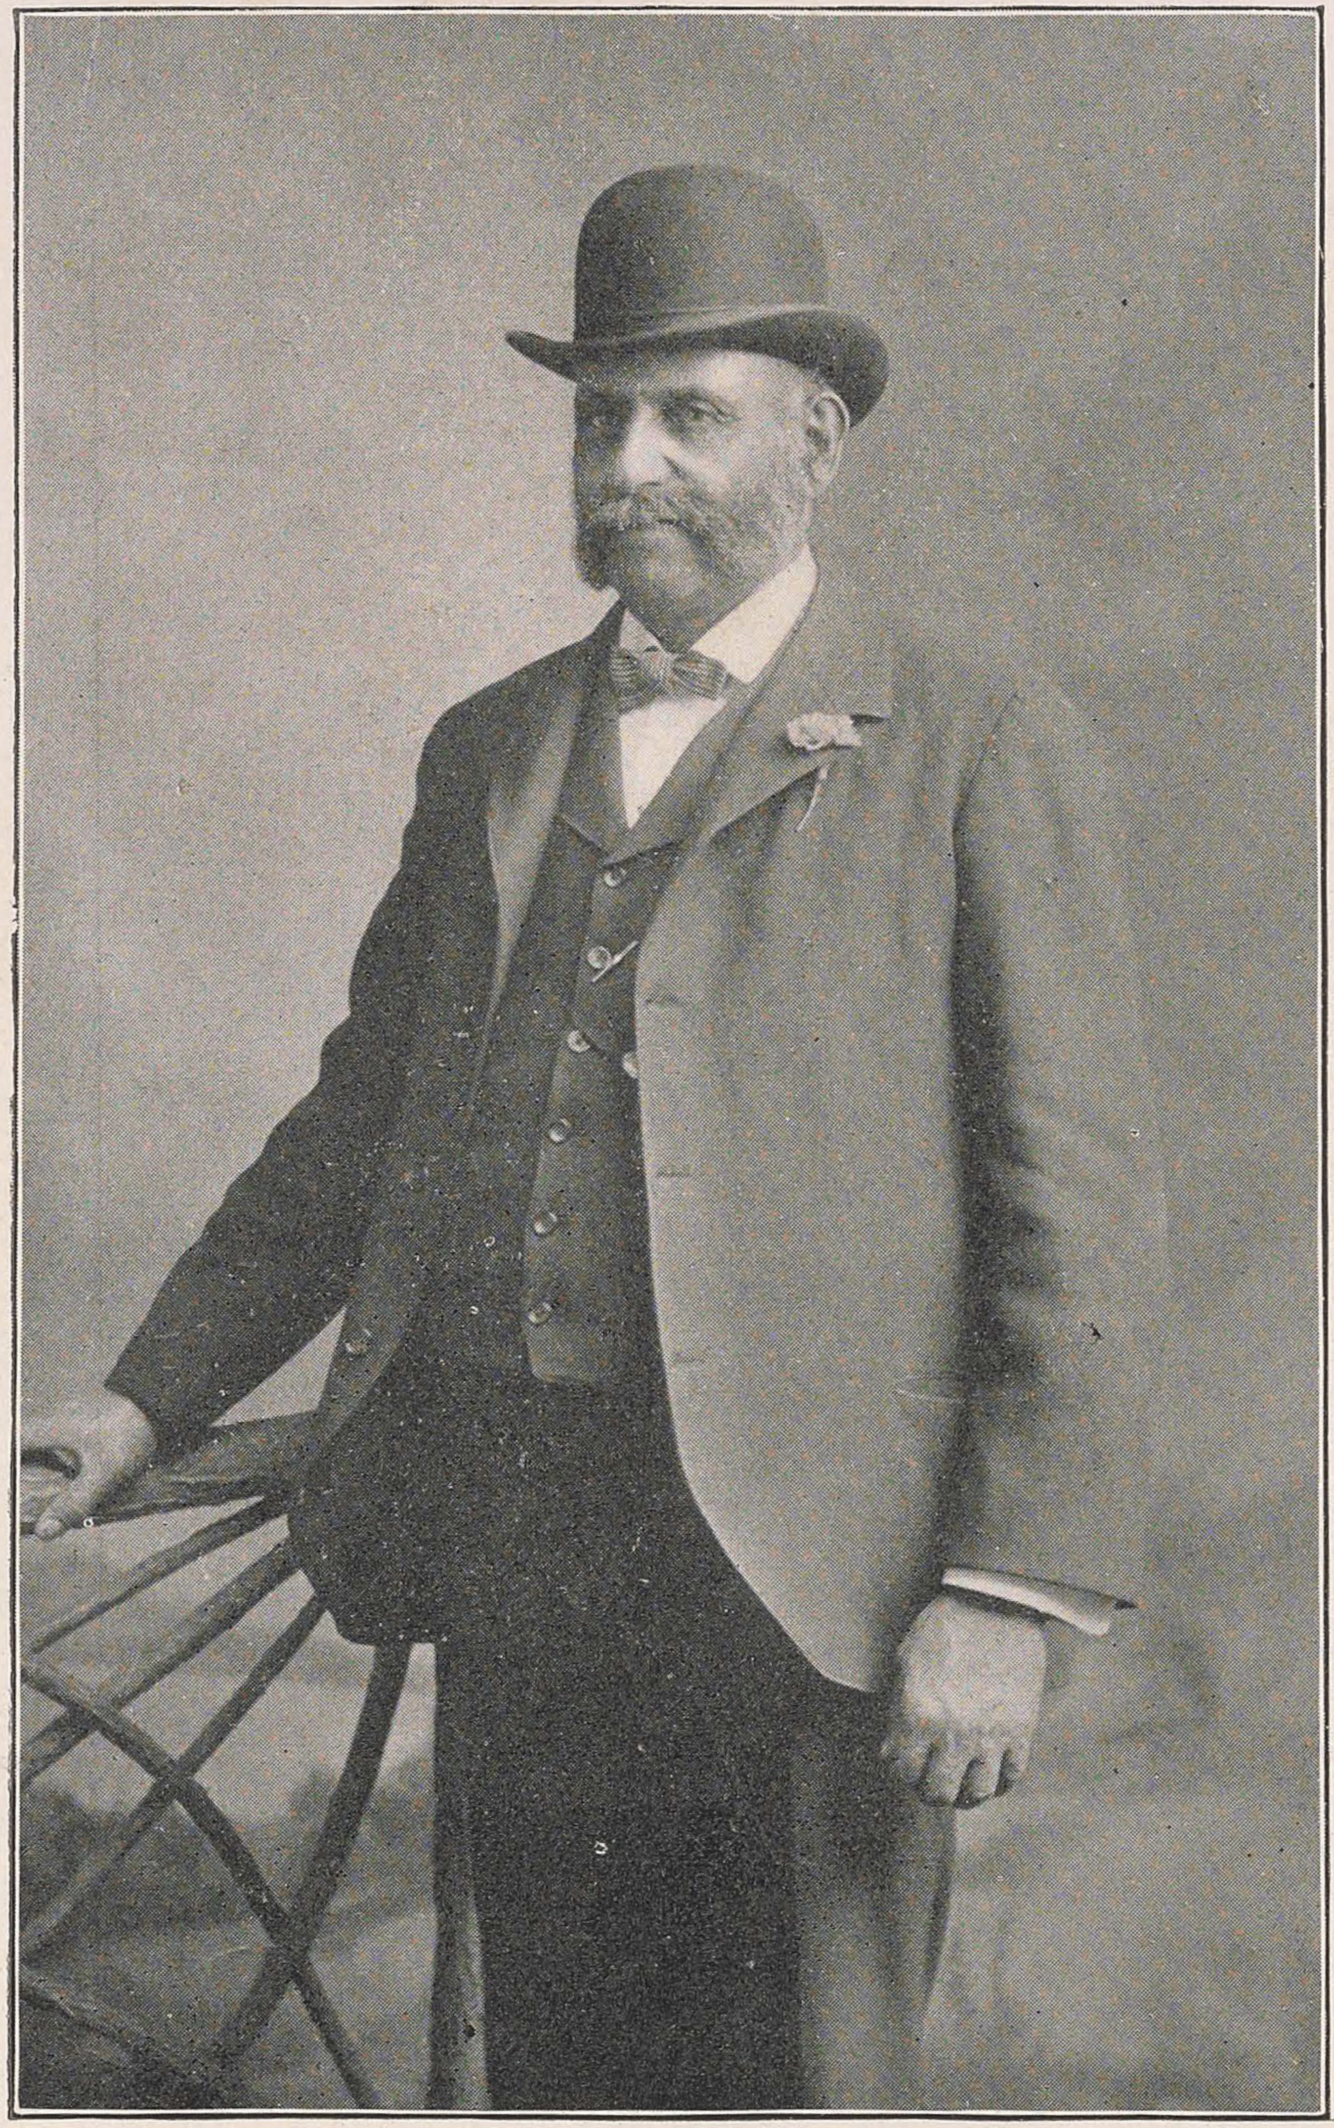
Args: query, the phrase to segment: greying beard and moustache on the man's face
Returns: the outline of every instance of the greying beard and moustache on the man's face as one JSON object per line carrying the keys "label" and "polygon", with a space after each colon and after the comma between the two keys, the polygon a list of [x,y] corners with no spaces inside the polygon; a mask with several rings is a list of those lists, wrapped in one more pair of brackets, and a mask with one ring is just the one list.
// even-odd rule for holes
{"label": "greying beard and moustache on the man's face", "polygon": [[726,496],[681,479],[626,494],[574,470],[579,575],[594,592],[619,592],[632,613],[740,604],[791,558],[808,519],[811,481],[798,449],[774,453]]}

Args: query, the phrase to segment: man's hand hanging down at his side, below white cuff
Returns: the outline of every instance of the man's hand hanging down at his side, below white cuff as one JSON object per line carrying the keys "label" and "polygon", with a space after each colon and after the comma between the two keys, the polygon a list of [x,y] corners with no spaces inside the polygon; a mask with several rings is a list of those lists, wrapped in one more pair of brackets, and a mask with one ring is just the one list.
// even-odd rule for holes
{"label": "man's hand hanging down at his side, below white cuff", "polygon": [[1047,1643],[1021,1611],[936,1596],[896,1658],[885,1758],[923,1802],[970,1809],[1004,1796],[1028,1764]]}

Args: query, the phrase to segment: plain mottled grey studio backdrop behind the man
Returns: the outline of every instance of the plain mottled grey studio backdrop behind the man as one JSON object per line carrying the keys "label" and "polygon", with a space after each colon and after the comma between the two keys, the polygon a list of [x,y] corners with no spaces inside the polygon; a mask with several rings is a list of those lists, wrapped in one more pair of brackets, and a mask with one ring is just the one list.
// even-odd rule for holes
{"label": "plain mottled grey studio backdrop behind the man", "polygon": [[894,362],[826,545],[1123,764],[1177,1270],[1147,1600],[966,1828],[938,2105],[1319,2105],[1317,36],[23,23],[34,1402],[306,1087],[436,713],[600,611],[568,387],[502,332],[566,330],[611,179],[817,209]]}

